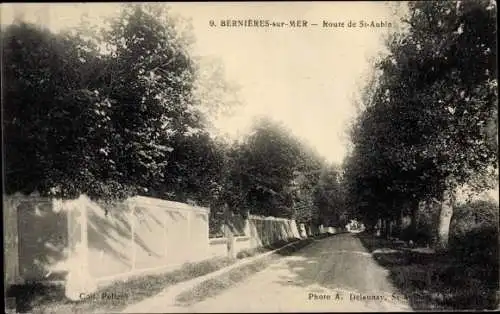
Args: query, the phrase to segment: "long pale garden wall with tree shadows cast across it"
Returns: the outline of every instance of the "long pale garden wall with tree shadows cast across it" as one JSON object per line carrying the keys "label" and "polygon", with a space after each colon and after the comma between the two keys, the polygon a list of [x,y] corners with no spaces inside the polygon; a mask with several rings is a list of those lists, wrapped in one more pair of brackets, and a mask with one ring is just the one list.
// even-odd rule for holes
{"label": "long pale garden wall with tree shadows cast across it", "polygon": [[109,280],[206,259],[208,216],[207,208],[140,196],[113,206],[86,196],[6,197],[7,283],[64,280],[71,271]]}

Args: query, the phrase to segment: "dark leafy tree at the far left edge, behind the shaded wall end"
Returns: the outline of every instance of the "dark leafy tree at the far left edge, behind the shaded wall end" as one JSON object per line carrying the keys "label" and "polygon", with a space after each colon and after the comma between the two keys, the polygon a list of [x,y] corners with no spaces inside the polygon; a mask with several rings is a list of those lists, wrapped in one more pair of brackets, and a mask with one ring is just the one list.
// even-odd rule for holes
{"label": "dark leafy tree at the far left edge, behind the shaded wall end", "polygon": [[2,43],[6,192],[121,193],[103,174],[113,165],[103,154],[113,130],[94,47],[26,23],[2,30]]}

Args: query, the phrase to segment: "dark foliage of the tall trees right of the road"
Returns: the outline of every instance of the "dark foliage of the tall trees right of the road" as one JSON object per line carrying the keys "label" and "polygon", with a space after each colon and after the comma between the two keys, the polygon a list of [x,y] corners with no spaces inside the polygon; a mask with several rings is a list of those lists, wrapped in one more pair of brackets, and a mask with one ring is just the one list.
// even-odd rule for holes
{"label": "dark foliage of the tall trees right of the road", "polygon": [[347,186],[367,216],[487,182],[477,179],[497,165],[495,16],[486,1],[409,3],[352,132]]}

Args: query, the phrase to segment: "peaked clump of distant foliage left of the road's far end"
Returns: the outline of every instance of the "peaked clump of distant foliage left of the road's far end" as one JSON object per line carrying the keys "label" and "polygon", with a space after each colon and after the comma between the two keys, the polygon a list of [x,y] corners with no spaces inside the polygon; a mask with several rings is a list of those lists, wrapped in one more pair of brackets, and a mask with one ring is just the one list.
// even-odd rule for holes
{"label": "peaked clump of distant foliage left of the road's far end", "polygon": [[291,135],[261,118],[227,155],[224,200],[240,212],[336,223],[342,206],[339,170]]}

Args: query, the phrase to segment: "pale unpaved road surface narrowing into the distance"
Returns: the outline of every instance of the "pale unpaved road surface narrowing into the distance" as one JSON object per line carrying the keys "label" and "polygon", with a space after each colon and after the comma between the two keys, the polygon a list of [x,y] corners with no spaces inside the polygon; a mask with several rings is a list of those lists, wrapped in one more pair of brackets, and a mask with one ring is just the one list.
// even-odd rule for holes
{"label": "pale unpaved road surface narrowing into the distance", "polygon": [[182,312],[411,311],[353,234],[316,240]]}

